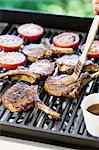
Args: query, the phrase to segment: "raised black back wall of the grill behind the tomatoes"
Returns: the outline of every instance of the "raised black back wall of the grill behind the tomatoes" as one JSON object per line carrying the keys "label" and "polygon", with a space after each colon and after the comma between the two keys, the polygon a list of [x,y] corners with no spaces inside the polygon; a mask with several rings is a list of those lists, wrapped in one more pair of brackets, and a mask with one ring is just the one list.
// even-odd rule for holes
{"label": "raised black back wall of the grill behind the tomatoes", "polygon": [[[3,9],[0,8],[0,21],[14,24],[34,22],[46,28],[74,30],[88,32],[92,22],[89,17],[72,17],[66,15],[55,15],[29,10]],[[66,24],[66,28],[64,26]]]}

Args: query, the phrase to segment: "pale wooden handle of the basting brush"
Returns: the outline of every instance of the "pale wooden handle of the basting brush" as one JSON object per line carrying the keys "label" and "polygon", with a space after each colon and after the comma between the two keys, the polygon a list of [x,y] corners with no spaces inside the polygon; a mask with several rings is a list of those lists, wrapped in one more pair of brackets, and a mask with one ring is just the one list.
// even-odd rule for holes
{"label": "pale wooden handle of the basting brush", "polygon": [[96,15],[94,17],[94,20],[93,20],[92,25],[90,27],[90,30],[89,30],[89,33],[88,33],[88,36],[87,36],[87,40],[86,40],[86,43],[85,43],[85,47],[84,47],[83,53],[82,53],[82,55],[79,58],[79,60],[83,64],[86,61],[86,57],[87,57],[88,51],[89,51],[89,49],[91,47],[91,44],[92,44],[93,40],[95,39],[97,30],[98,30],[98,26],[99,26],[99,15]]}

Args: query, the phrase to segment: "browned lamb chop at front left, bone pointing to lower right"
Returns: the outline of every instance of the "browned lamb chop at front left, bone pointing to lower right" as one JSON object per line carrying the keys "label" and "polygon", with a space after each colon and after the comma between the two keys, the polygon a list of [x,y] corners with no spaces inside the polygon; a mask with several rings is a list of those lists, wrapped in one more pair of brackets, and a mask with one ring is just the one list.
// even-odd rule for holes
{"label": "browned lamb chop at front left, bone pointing to lower right", "polygon": [[45,113],[59,118],[59,113],[50,109],[39,99],[37,89],[37,85],[29,86],[23,82],[16,83],[4,93],[2,102],[11,112],[20,112],[35,106]]}

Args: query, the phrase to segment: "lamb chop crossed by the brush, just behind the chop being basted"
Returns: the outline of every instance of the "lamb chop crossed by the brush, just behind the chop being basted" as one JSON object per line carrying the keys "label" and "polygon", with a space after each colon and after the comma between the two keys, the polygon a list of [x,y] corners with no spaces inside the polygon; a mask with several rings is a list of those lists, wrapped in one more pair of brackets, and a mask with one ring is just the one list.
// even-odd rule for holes
{"label": "lamb chop crossed by the brush, just behind the chop being basted", "polygon": [[[64,55],[61,58],[56,60],[59,71],[72,74],[75,66],[77,65],[79,56],[76,54],[73,55]],[[91,60],[87,60],[84,65],[83,71],[86,72],[96,72],[99,70],[99,65],[93,63]]]}

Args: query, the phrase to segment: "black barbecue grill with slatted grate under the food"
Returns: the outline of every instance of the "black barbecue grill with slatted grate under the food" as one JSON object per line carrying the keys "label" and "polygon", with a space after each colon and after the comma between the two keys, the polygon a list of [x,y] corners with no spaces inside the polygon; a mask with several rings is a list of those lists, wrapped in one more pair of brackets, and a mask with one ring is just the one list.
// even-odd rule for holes
{"label": "black barbecue grill with slatted grate under the food", "polygon": [[[80,36],[80,44],[75,52],[79,54],[80,47],[86,40],[92,19],[1,9],[0,21],[1,34],[17,35],[16,29],[23,23],[33,22],[43,26],[45,29],[43,36],[38,40],[31,41],[32,43],[40,43],[45,37],[51,42],[53,36],[63,31],[76,32]],[[98,34],[96,39],[98,39]],[[25,40],[24,44],[29,44],[29,42]],[[52,59],[55,60],[56,58],[54,57]],[[98,59],[93,59],[93,61],[98,62]],[[3,71],[5,70],[0,70],[0,72]],[[0,81],[0,98],[2,93],[12,84],[9,81],[5,81],[4,83]],[[54,145],[68,145],[69,147],[76,148],[99,148],[99,138],[92,137],[88,134],[80,108],[81,101],[86,95],[99,92],[99,79],[97,78],[87,84],[81,91],[78,99],[49,96],[43,88],[44,79],[40,80],[38,84],[40,99],[53,110],[61,113],[61,119],[55,120],[36,108],[32,108],[26,112],[11,113],[4,107],[0,100],[1,135]]]}

